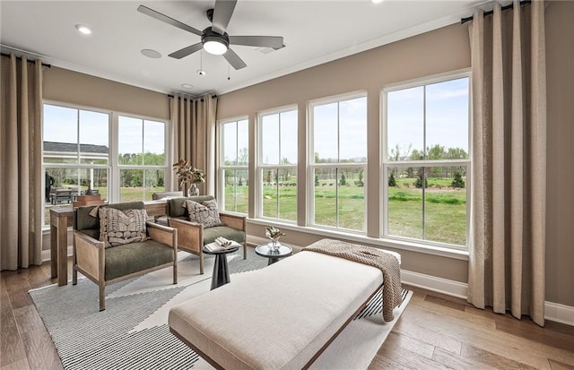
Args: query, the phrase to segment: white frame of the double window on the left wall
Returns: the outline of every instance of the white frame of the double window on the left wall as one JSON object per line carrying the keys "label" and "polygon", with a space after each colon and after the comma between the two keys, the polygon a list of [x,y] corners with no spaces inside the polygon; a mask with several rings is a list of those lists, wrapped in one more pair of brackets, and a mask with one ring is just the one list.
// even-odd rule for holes
{"label": "white frame of the double window on the left wall", "polygon": [[[172,158],[171,158],[171,146],[170,146],[170,134],[171,134],[171,122],[170,120],[166,120],[166,119],[162,119],[162,118],[158,118],[158,117],[151,117],[151,116],[142,116],[142,115],[135,115],[135,114],[131,114],[131,113],[124,113],[124,112],[118,112],[118,111],[113,111],[113,110],[109,110],[109,109],[104,109],[104,108],[93,108],[93,107],[87,107],[87,106],[82,106],[82,105],[77,105],[77,104],[72,104],[72,103],[67,103],[67,102],[62,102],[62,101],[55,101],[55,100],[49,100],[49,99],[43,99],[42,100],[42,112],[44,110],[44,106],[45,105],[49,105],[49,106],[56,106],[56,107],[60,107],[60,108],[69,108],[69,109],[74,109],[77,112],[80,111],[90,111],[90,112],[96,112],[96,113],[101,113],[101,114],[105,114],[108,115],[108,146],[109,146],[109,156],[108,156],[108,163],[107,164],[87,164],[87,163],[82,163],[80,161],[78,161],[77,163],[47,163],[44,162],[44,158],[45,158],[45,151],[44,151],[44,141],[42,140],[42,172],[46,173],[46,171],[49,168],[69,168],[69,169],[90,169],[90,168],[100,168],[100,169],[107,169],[108,171],[108,194],[107,194],[107,202],[109,203],[113,203],[113,202],[119,202],[119,196],[120,196],[120,186],[119,186],[119,170],[120,169],[128,169],[128,168],[132,168],[135,166],[132,165],[119,165],[119,161],[118,161],[118,117],[119,116],[126,116],[126,117],[131,117],[131,118],[136,118],[136,119],[142,119],[142,120],[147,120],[147,121],[155,121],[155,122],[161,122],[164,125],[164,148],[165,148],[165,163],[164,166],[141,166],[135,169],[164,169],[165,170],[165,177],[164,177],[164,189],[169,189],[171,187],[171,183],[170,183],[170,171],[171,171],[171,167],[170,167],[170,163],[172,162]],[[80,115],[78,113],[77,115],[77,119],[76,119],[76,125],[77,127],[79,127],[80,125]],[[44,130],[44,116],[42,116],[42,131]],[[79,135],[79,133],[78,133]],[[79,140],[79,136],[78,136],[78,140]],[[79,143],[79,142],[78,142]],[[78,153],[79,155],[79,153]],[[45,176],[42,176],[42,188],[45,188],[46,184],[45,184]],[[69,206],[71,206],[72,204],[68,204]],[[49,229],[49,225],[46,224],[46,219],[45,219],[45,210],[46,210],[46,203],[43,206],[43,211],[42,211],[42,228],[44,230]]]}

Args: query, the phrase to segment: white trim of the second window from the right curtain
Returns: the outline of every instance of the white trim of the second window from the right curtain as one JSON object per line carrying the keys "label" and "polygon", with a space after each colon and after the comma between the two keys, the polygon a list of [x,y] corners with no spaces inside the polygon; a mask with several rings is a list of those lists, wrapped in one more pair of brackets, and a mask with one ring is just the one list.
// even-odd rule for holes
{"label": "white trim of the second window from the right curtain", "polygon": [[[308,166],[307,166],[307,176],[309,178],[309,182],[306,188],[307,191],[307,199],[308,199],[308,206],[307,206],[307,219],[308,219],[308,228],[317,228],[317,229],[324,229],[324,230],[331,230],[335,232],[343,232],[345,235],[366,235],[367,234],[367,168],[368,168],[368,153],[366,153],[365,157],[367,160],[361,163],[347,163],[347,162],[336,162],[336,163],[315,163],[315,137],[314,137],[314,118],[315,115],[313,114],[313,108],[319,105],[326,105],[331,103],[339,103],[344,100],[352,100],[358,98],[365,98],[368,100],[368,93],[367,90],[356,90],[348,93],[333,95],[325,98],[313,99],[307,102],[307,148],[308,148]],[[369,108],[367,107],[367,115],[369,115]],[[338,123],[337,123],[338,125]],[[367,130],[368,131],[368,130]],[[365,134],[368,134],[365,133]],[[337,142],[337,146],[339,143]],[[362,168],[364,178],[364,209],[363,213],[365,215],[363,219],[363,226],[361,230],[352,230],[347,228],[336,228],[336,227],[329,227],[325,225],[317,225],[315,223],[315,168]]]}

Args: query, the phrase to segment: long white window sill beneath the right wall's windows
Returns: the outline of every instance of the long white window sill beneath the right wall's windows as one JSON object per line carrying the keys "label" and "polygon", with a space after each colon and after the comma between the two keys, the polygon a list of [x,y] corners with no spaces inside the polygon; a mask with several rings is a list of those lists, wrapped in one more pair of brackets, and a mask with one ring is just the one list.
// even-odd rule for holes
{"label": "long white window sill beneath the right wall's windows", "polygon": [[291,230],[295,232],[317,235],[322,237],[338,237],[354,243],[366,243],[369,245],[377,245],[382,248],[394,248],[398,250],[412,251],[421,254],[432,254],[456,260],[468,261],[468,251],[457,250],[454,248],[451,249],[447,247],[440,247],[438,245],[423,245],[419,243],[404,240],[389,239],[383,237],[367,237],[365,235],[354,234],[351,232],[330,230],[325,228],[302,227],[294,224],[281,223],[266,219],[248,219],[248,223],[262,226],[274,226],[285,230]]}

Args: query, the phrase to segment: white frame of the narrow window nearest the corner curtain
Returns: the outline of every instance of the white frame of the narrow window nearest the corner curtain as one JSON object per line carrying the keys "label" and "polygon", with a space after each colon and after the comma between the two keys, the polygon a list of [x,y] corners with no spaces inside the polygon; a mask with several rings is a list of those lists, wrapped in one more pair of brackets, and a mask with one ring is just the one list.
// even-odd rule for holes
{"label": "white frame of the narrow window nearest the corner curtain", "polygon": [[[248,153],[249,153],[249,117],[248,116],[236,116],[236,117],[232,117],[232,118],[227,118],[227,119],[222,119],[219,120],[217,122],[217,130],[216,130],[216,140],[217,140],[217,146],[218,146],[218,151],[217,151],[217,194],[218,194],[218,205],[220,210],[228,212],[228,213],[232,213],[232,214],[238,214],[238,215],[242,215],[242,216],[247,216],[249,213],[249,194],[248,194],[248,209],[246,212],[239,212],[237,211],[237,204],[235,204],[234,209],[230,210],[226,208],[226,204],[225,204],[225,171],[226,170],[242,170],[245,171],[248,175],[249,175],[249,161],[250,156],[248,155],[248,162],[245,165],[226,165],[225,164],[225,125],[228,124],[232,124],[235,123],[236,125],[239,125],[240,121],[247,121],[248,123],[248,137],[247,137],[247,142],[248,142]],[[237,133],[237,131],[236,131]],[[236,140],[237,138],[239,138],[239,135],[236,136]],[[239,148],[238,148],[239,151]],[[249,180],[251,181],[251,180]],[[249,182],[249,184],[251,184]],[[236,190],[236,194],[237,194],[237,190]],[[236,196],[237,198],[237,196]]]}

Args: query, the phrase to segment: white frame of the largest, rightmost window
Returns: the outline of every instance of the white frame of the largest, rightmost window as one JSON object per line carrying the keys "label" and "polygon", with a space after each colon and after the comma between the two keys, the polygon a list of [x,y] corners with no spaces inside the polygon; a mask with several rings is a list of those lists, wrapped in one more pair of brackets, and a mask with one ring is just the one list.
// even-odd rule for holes
{"label": "white frame of the largest, rightmost window", "polygon": [[[392,91],[397,90],[406,90],[415,87],[424,87],[427,85],[431,85],[433,83],[439,82],[448,82],[458,79],[468,79],[468,159],[424,159],[424,160],[399,160],[399,161],[389,161],[387,159],[388,155],[388,122],[387,122],[387,94]],[[380,102],[379,105],[380,109],[380,159],[381,159],[381,167],[380,167],[380,198],[381,198],[381,219],[380,221],[380,237],[382,239],[396,241],[396,242],[404,242],[407,244],[414,244],[414,245],[421,245],[423,247],[430,247],[430,248],[439,248],[439,249],[446,249],[446,250],[453,250],[453,251],[463,251],[468,252],[470,249],[470,216],[472,212],[472,196],[471,196],[471,184],[472,184],[472,156],[473,156],[473,147],[472,147],[472,120],[473,120],[473,111],[472,111],[472,73],[470,69],[458,70],[454,72],[448,73],[439,73],[431,76],[425,76],[422,78],[406,81],[406,82],[396,82],[392,84],[385,85],[380,90]],[[423,103],[424,104],[424,103]],[[426,127],[426,107],[425,107],[425,114],[423,118]],[[426,135],[425,129],[423,129],[424,135]],[[423,149],[426,145],[426,138],[423,140]],[[414,237],[400,237],[395,235],[388,234],[388,179],[387,174],[389,168],[432,168],[432,167],[465,167],[466,168],[466,181],[465,181],[465,188],[466,188],[466,233],[465,233],[465,245],[455,245],[449,244],[444,242],[432,241],[428,239],[422,238],[414,238]],[[424,193],[423,193],[424,194]],[[423,212],[423,220],[424,220],[424,207],[425,207],[425,198],[424,195],[422,197],[422,212]],[[423,233],[424,233],[424,222],[422,223]]]}

